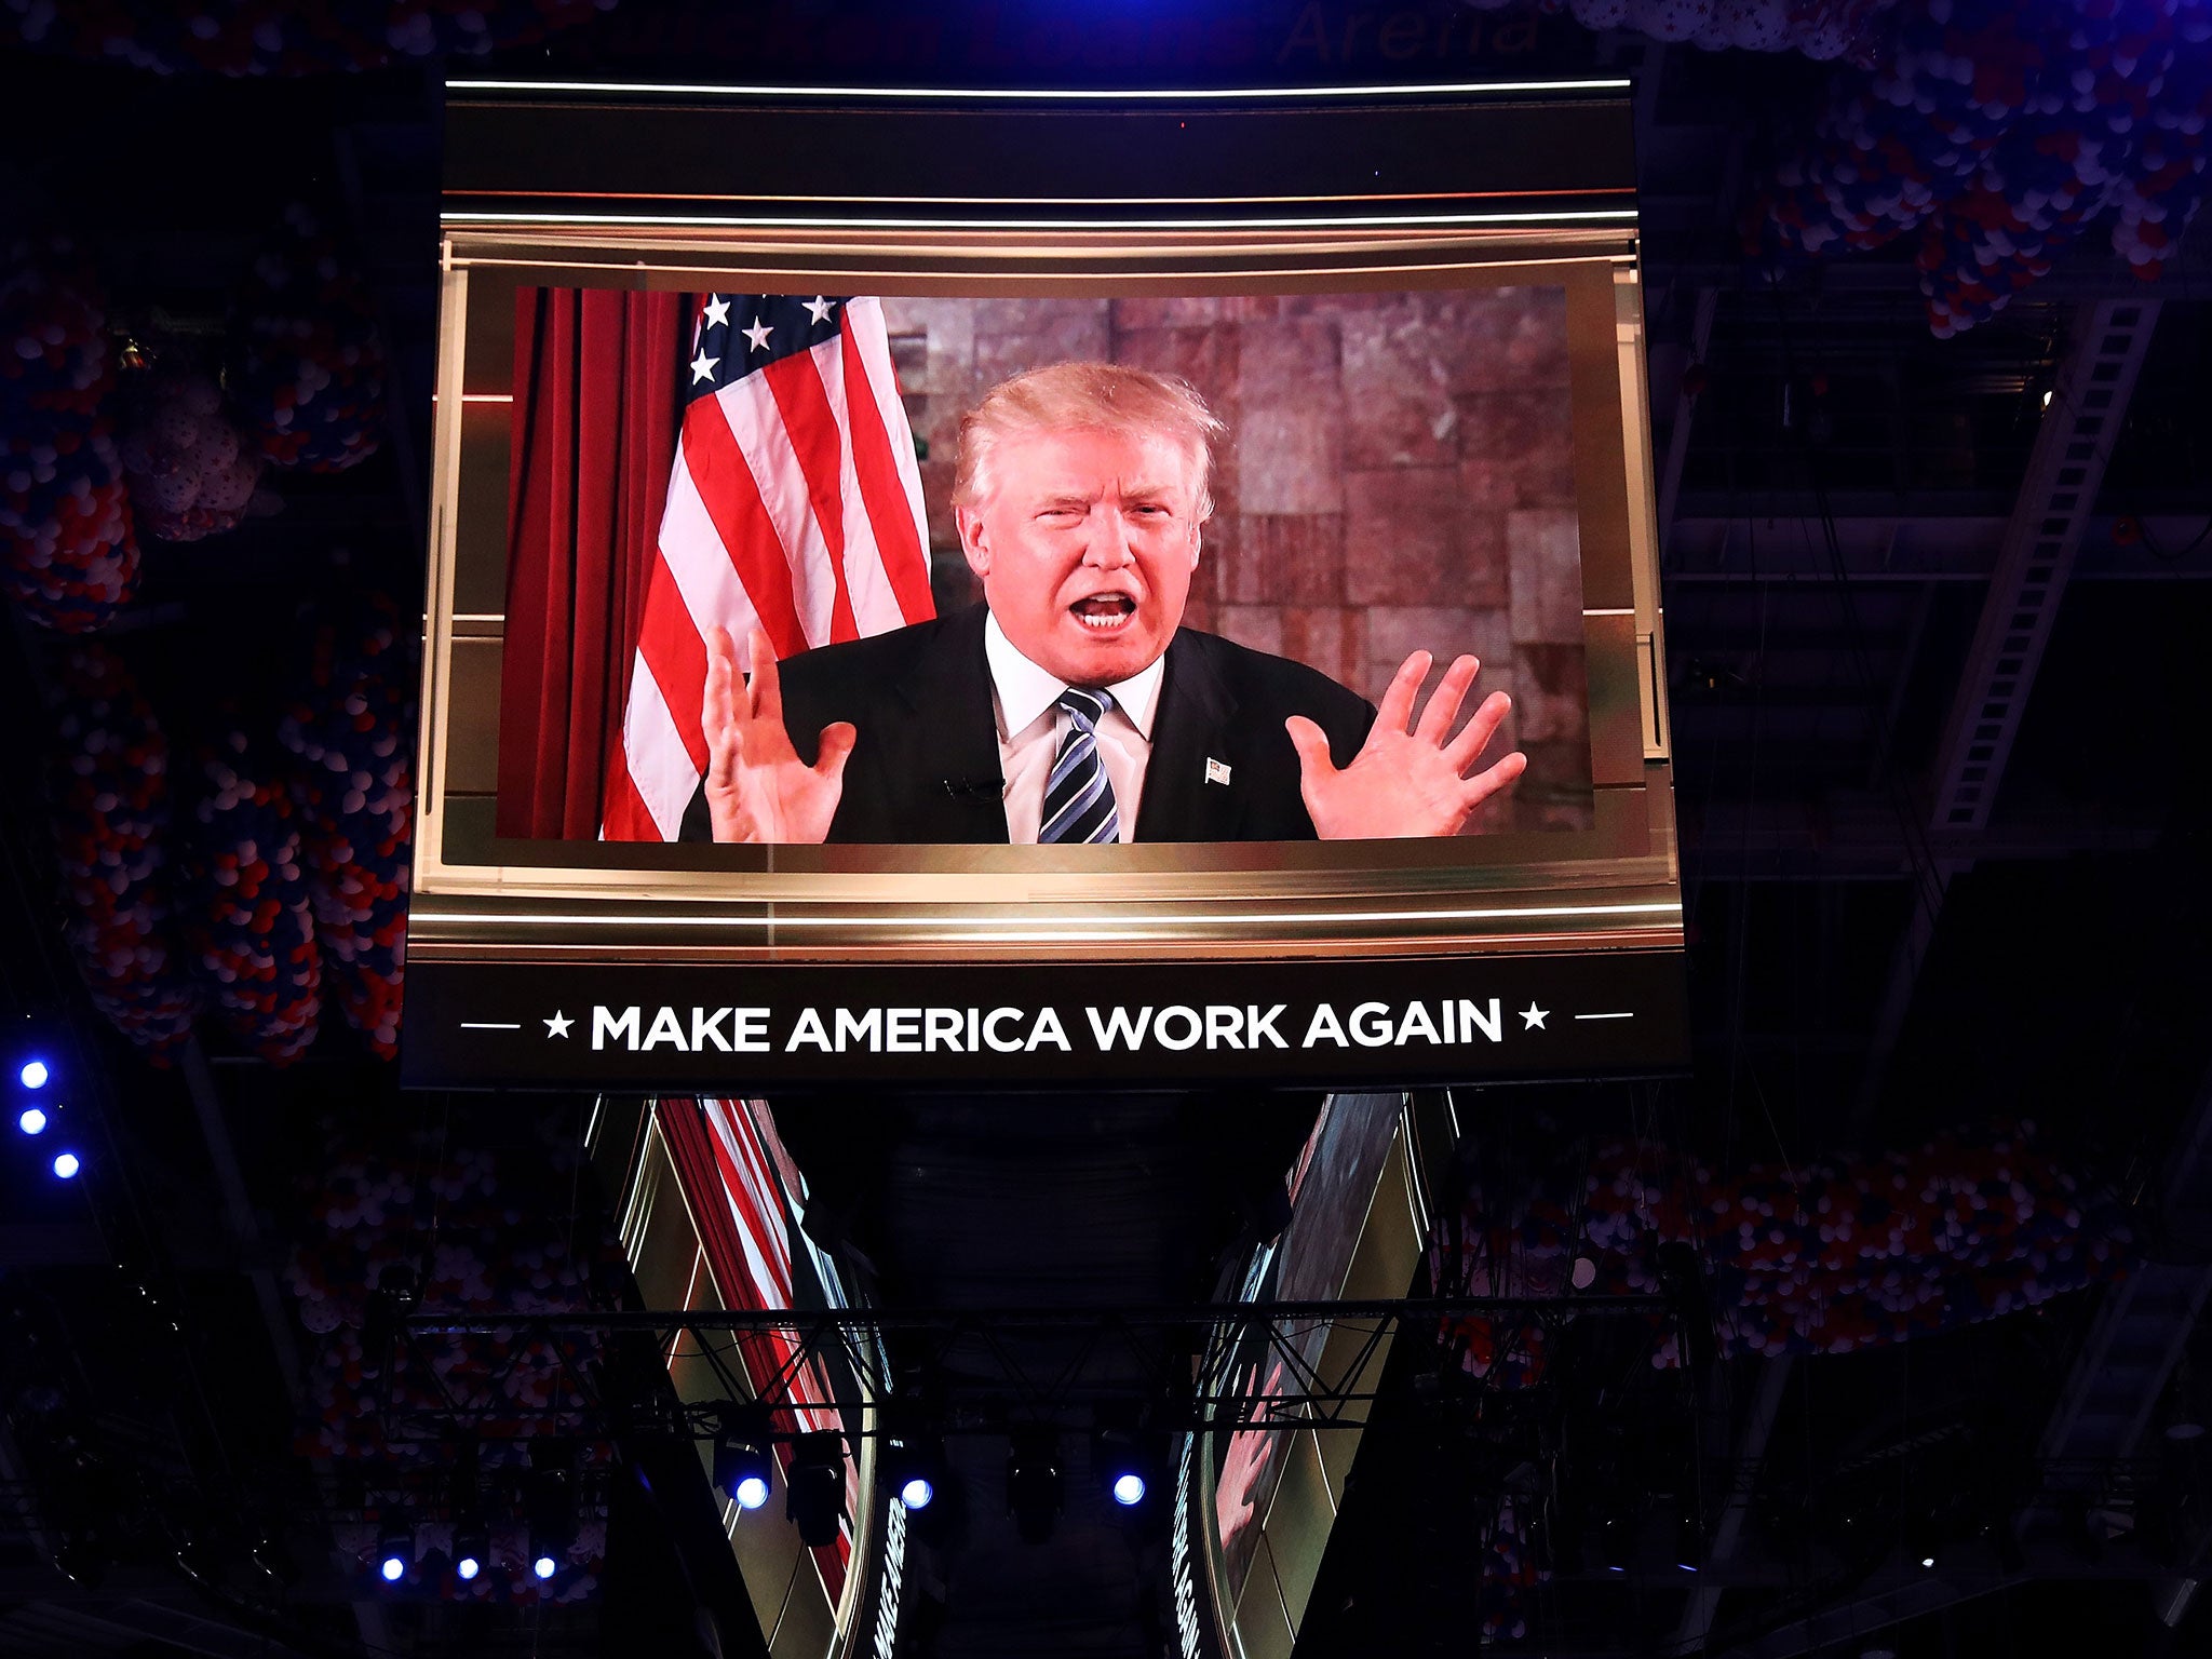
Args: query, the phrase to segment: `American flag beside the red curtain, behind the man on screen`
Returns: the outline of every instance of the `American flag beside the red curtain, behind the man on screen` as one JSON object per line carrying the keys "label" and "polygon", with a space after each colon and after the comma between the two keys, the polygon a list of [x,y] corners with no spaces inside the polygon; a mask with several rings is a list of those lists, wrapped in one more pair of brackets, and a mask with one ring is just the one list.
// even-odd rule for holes
{"label": "American flag beside the red curtain, behind the man on screen", "polygon": [[914,434],[876,299],[708,294],[681,372],[684,429],[608,841],[675,841],[706,772],[706,630],[763,628],[776,657],[936,615]]}

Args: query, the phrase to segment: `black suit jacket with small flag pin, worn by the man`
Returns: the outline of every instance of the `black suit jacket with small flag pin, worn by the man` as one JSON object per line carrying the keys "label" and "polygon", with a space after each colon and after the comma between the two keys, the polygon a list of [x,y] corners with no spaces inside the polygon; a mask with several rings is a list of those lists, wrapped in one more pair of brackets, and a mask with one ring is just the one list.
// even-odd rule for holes
{"label": "black suit jacket with small flag pin, worn by the man", "polygon": [[[814,759],[832,721],[860,732],[830,841],[1004,845],[984,617],[971,606],[781,666],[783,726],[803,759]],[[1133,841],[1312,841],[1298,752],[1283,730],[1290,714],[1329,734],[1338,765],[1358,754],[1376,719],[1365,697],[1303,664],[1177,630]],[[1210,759],[1228,765],[1228,783],[1206,781]],[[684,814],[684,841],[710,838],[701,783]]]}

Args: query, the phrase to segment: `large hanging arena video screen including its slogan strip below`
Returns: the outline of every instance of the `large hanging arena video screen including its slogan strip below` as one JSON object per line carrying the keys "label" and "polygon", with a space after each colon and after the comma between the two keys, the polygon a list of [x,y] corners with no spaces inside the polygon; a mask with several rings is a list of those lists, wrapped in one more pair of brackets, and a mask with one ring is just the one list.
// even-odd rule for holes
{"label": "large hanging arena video screen including its slogan strip below", "polygon": [[416,1077],[1674,1057],[1617,100],[1321,104],[456,95]]}

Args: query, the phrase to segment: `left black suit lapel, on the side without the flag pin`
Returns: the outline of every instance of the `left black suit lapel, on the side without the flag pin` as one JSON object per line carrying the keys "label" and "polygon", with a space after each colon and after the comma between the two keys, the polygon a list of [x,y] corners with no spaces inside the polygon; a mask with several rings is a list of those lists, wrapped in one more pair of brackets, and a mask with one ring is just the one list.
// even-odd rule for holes
{"label": "left black suit lapel, on the side without the flag pin", "polygon": [[918,843],[1006,841],[982,622],[980,604],[947,617],[914,677],[898,686],[914,717],[911,754],[889,754],[885,763],[914,790]]}

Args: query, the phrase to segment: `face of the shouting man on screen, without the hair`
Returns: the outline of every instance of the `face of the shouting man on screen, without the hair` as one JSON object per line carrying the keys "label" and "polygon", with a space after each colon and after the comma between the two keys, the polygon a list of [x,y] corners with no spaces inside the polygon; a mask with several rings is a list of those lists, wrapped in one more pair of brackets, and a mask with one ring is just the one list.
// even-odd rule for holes
{"label": "face of the shouting man on screen, without the hair", "polygon": [[1166,434],[1004,438],[960,546],[1015,650],[1071,686],[1141,672],[1183,622],[1199,456]]}

